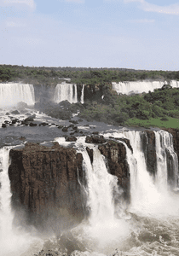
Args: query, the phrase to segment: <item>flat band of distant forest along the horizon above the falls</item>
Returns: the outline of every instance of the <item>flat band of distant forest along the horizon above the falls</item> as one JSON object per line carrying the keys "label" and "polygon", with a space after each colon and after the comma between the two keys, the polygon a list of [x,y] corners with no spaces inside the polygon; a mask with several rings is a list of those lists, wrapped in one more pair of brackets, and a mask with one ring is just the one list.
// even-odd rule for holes
{"label": "flat band of distant forest along the horizon above the falls", "polygon": [[37,84],[58,84],[62,79],[75,84],[111,84],[112,81],[137,81],[143,79],[179,79],[176,71],[148,71],[127,68],[85,67],[23,67],[0,65],[0,82],[23,81]]}

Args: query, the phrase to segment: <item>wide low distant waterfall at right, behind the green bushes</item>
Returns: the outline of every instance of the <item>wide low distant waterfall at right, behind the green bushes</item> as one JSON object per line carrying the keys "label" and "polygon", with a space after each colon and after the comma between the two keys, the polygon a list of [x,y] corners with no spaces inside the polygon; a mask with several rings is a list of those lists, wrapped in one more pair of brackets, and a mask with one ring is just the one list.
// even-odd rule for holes
{"label": "wide low distant waterfall at right, behind the green bushes", "polygon": [[[130,92],[134,93],[142,93],[142,92],[148,92],[153,91],[154,89],[162,88],[164,84],[168,84],[166,81],[136,81],[136,82],[119,82],[115,83],[113,82],[113,90],[116,90],[117,93],[122,94],[130,94]],[[171,80],[170,85],[172,87],[179,87],[179,81]]]}

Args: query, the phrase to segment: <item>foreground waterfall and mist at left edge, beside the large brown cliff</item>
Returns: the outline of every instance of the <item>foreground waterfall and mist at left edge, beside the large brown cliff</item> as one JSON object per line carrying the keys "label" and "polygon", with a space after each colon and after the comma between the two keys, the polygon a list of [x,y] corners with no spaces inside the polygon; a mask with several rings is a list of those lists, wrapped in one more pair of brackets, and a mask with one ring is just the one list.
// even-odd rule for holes
{"label": "foreground waterfall and mist at left edge, beside the large brown cliff", "polygon": [[[13,147],[0,149],[0,255],[20,256],[33,243],[33,247],[42,247],[42,241],[30,236],[25,231],[14,229],[14,213],[11,209],[11,192],[9,182],[9,150]],[[38,245],[37,245],[38,242]],[[34,251],[34,253],[37,251]],[[32,250],[33,252],[33,250]],[[26,256],[32,254],[26,254]],[[25,255],[24,255],[25,256]]]}

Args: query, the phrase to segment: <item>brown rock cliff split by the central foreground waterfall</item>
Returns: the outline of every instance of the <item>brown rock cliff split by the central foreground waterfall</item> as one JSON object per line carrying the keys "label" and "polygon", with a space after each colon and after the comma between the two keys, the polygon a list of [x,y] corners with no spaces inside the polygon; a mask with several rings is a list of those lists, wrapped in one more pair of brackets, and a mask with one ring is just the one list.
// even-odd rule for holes
{"label": "brown rock cliff split by the central foreground waterfall", "polygon": [[[130,173],[124,144],[104,142],[99,144],[99,149],[107,158],[109,172],[118,177],[124,197],[129,198]],[[91,149],[89,152],[92,160],[93,152]],[[87,195],[80,184],[85,186],[86,180],[83,156],[76,149],[58,143],[52,147],[26,143],[25,148],[11,149],[10,158],[9,178],[16,212],[25,209],[30,223],[34,215],[40,223],[52,216],[63,219],[63,225],[68,223],[66,218],[84,218]]]}

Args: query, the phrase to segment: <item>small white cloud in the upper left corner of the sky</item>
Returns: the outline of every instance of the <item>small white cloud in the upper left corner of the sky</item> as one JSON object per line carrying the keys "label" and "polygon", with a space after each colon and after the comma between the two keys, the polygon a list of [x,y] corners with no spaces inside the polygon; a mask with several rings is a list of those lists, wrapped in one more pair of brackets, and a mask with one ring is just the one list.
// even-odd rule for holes
{"label": "small white cloud in the upper left corner of the sky", "polygon": [[36,3],[34,2],[34,0],[0,0],[0,6],[12,6],[12,5],[15,7],[23,5],[32,10],[36,8]]}

